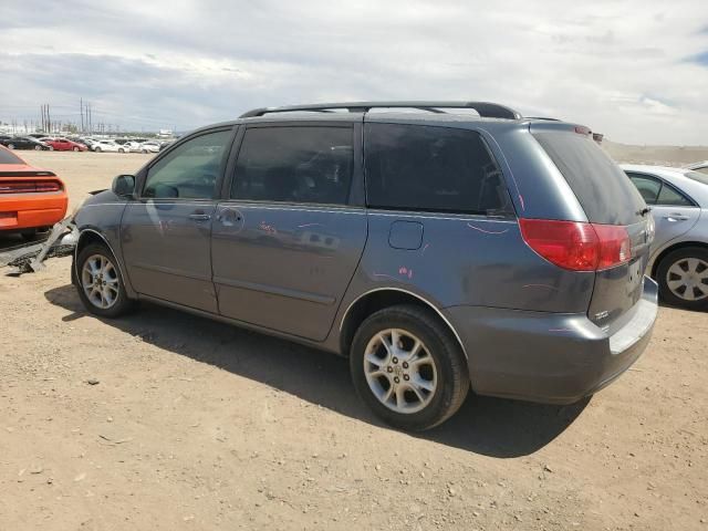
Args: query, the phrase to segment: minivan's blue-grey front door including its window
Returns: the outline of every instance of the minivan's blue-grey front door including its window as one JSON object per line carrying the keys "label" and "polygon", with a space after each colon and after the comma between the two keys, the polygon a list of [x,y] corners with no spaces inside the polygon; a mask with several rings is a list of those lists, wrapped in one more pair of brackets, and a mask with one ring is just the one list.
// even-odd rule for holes
{"label": "minivan's blue-grey front door including its window", "polygon": [[200,134],[153,164],[125,209],[121,242],[135,291],[217,312],[210,237],[232,131]]}

